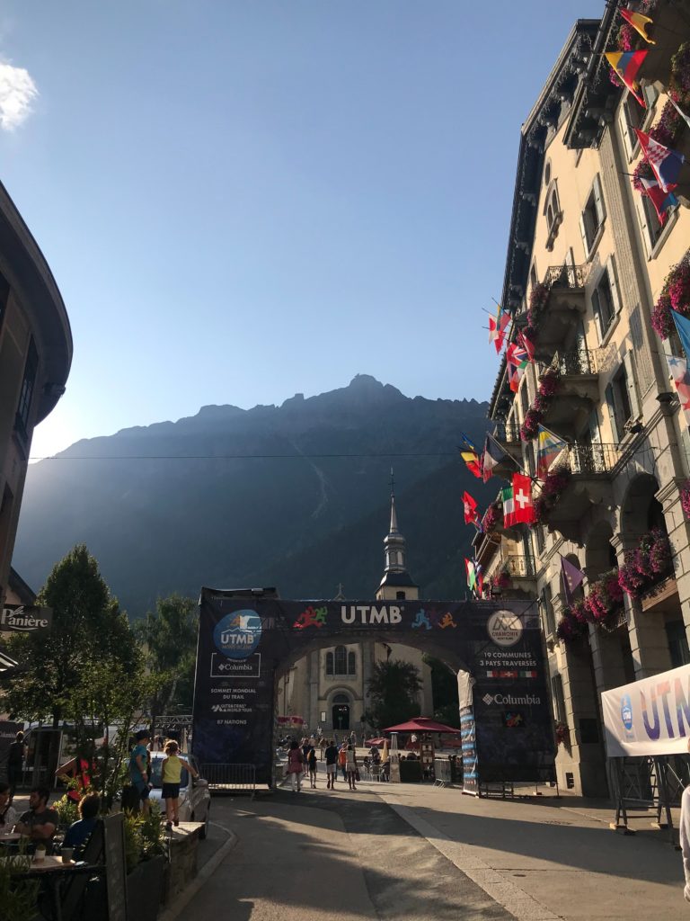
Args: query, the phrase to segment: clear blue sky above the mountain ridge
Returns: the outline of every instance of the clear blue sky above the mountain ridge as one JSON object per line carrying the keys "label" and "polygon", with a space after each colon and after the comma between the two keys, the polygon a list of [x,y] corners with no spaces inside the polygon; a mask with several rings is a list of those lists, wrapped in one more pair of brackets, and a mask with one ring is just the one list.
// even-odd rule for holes
{"label": "clear blue sky above the mountain ridge", "polygon": [[487,399],[520,125],[604,0],[4,0],[0,179],[75,338],[32,455],[373,374]]}

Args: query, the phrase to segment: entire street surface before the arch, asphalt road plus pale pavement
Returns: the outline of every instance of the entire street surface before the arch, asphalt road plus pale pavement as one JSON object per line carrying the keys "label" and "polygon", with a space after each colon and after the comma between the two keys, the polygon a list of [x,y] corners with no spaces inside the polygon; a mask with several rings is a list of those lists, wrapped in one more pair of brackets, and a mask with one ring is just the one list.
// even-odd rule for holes
{"label": "entire street surface before the arch, asphalt road plus pale pavement", "polygon": [[675,921],[679,854],[608,829],[604,804],[362,783],[213,800],[236,846],[180,916]]}

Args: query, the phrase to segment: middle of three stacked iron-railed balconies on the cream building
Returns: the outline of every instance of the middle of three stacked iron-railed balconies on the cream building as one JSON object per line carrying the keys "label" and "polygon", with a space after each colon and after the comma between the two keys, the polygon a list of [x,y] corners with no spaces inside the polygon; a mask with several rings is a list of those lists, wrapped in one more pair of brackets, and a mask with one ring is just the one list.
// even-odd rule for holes
{"label": "middle of three stacked iron-railed balconies on the cream building", "polygon": [[562,437],[577,437],[599,402],[599,369],[603,349],[557,352],[548,368],[558,385],[549,398],[542,425]]}

